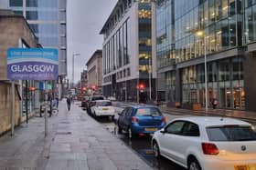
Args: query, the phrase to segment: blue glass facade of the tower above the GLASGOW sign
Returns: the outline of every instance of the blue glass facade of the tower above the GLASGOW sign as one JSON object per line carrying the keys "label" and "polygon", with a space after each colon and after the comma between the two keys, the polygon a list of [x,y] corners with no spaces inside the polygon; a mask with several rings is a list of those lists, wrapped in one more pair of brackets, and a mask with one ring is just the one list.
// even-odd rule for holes
{"label": "blue glass facade of the tower above the GLASGOW sign", "polygon": [[[66,4],[66,0],[9,0],[10,8],[25,16],[40,45],[59,49],[61,61],[67,60]],[[59,75],[67,75],[66,63],[59,63]]]}

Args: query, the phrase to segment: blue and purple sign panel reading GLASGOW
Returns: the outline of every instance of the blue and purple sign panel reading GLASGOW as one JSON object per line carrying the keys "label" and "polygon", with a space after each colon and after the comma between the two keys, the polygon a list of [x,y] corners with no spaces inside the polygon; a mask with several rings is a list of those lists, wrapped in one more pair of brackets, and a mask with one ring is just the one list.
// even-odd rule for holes
{"label": "blue and purple sign panel reading GLASGOW", "polygon": [[58,50],[53,48],[9,48],[7,78],[10,80],[57,80]]}

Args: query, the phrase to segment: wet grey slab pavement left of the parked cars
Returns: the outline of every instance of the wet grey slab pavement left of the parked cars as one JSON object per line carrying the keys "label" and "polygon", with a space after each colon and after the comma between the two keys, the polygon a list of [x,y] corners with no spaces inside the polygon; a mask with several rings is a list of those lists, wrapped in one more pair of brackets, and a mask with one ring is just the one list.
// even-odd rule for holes
{"label": "wet grey slab pavement left of the parked cars", "polygon": [[59,113],[33,117],[16,127],[15,135],[0,137],[0,170],[149,170],[144,160],[103,125],[65,101]]}

